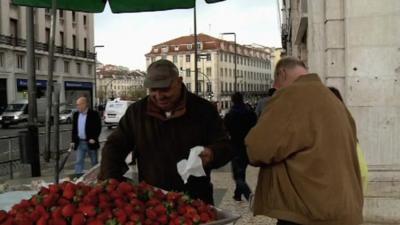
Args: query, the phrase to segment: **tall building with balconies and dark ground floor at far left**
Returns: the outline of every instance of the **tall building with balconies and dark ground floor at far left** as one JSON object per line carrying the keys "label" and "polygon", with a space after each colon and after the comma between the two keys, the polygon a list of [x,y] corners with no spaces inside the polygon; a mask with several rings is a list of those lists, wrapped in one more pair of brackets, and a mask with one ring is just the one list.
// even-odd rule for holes
{"label": "tall building with balconies and dark ground floor at far left", "polygon": [[[50,10],[34,9],[37,88],[45,95],[48,77]],[[57,11],[54,81],[61,102],[73,104],[80,95],[93,97],[93,15]],[[0,106],[27,99],[26,8],[0,2]]]}

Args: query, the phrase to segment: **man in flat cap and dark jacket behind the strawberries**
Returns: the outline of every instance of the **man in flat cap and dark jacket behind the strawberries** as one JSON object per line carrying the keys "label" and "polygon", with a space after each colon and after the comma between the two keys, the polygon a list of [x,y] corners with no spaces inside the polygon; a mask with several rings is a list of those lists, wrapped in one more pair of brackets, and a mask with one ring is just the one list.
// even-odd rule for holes
{"label": "man in flat cap and dark jacket behind the strawberries", "polygon": [[[149,96],[132,104],[102,151],[99,179],[123,179],[126,156],[133,152],[139,180],[168,191],[182,191],[213,203],[212,169],[231,159],[231,148],[216,108],[189,91],[178,68],[168,60],[150,64],[144,86]],[[190,176],[184,184],[177,163],[190,149],[200,153],[206,176]]]}

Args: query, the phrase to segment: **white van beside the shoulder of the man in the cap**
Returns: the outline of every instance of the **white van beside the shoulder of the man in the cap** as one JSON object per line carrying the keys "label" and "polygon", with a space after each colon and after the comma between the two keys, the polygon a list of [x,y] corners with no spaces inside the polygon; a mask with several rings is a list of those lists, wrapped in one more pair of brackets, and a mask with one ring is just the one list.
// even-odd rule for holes
{"label": "white van beside the shoulder of the man in the cap", "polygon": [[118,126],[119,120],[132,103],[133,101],[125,101],[118,98],[108,101],[104,111],[104,123],[106,126],[109,129],[113,126]]}

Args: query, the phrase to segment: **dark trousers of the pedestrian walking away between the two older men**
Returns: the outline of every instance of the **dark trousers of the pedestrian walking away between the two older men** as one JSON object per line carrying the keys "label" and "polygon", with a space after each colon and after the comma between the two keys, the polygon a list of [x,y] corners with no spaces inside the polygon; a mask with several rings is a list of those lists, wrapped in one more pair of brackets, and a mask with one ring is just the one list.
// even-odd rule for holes
{"label": "dark trousers of the pedestrian walking away between the two older men", "polygon": [[240,199],[241,196],[243,195],[247,200],[249,200],[251,190],[249,188],[249,185],[247,185],[246,183],[246,168],[248,163],[249,161],[246,155],[235,156],[232,159],[231,163],[232,174],[233,174],[233,179],[235,180],[236,183],[235,194],[234,194],[235,199]]}

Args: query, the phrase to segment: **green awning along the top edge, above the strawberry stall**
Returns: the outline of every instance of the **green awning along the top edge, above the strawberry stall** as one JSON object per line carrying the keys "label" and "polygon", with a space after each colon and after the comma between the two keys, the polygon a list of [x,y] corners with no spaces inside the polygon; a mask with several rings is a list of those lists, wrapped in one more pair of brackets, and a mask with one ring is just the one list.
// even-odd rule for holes
{"label": "green awning along the top edge, above the strawberry stall", "polygon": [[[214,3],[224,0],[206,0]],[[12,0],[13,4],[51,8],[52,0]],[[57,9],[97,13],[103,12],[107,0],[57,0]],[[193,8],[196,0],[108,0],[113,13],[147,12]]]}

